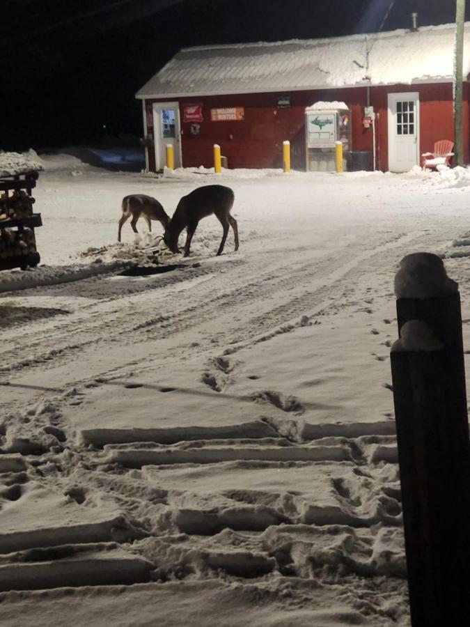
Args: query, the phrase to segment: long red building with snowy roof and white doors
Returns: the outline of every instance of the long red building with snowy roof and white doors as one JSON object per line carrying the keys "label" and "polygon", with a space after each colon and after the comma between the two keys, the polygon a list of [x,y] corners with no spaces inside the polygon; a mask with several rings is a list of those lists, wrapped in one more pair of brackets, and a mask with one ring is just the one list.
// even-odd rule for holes
{"label": "long red building with snowy roof and white doors", "polygon": [[[144,85],[148,169],[212,167],[212,147],[230,168],[306,168],[305,108],[342,101],[352,150],[370,167],[407,171],[435,141],[453,139],[455,24],[318,40],[182,49]],[[469,162],[470,22],[464,40],[464,161]],[[375,121],[366,117],[373,107]],[[366,110],[365,110],[366,109]],[[375,156],[375,160],[374,157]]]}

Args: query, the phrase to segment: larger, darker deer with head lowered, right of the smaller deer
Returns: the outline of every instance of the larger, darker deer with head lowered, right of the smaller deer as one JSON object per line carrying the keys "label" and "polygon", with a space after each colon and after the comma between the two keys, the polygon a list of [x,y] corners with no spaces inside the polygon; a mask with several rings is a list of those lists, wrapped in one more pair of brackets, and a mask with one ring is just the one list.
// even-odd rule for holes
{"label": "larger, darker deer with head lowered, right of the smaller deer", "polygon": [[222,241],[220,242],[217,254],[222,254],[224,250],[228,226],[231,226],[233,229],[233,235],[235,235],[235,250],[238,250],[237,221],[230,215],[230,209],[233,206],[234,199],[235,194],[233,194],[232,189],[224,185],[205,185],[204,187],[194,189],[194,191],[187,194],[187,196],[183,196],[178,203],[173,217],[165,228],[165,244],[172,252],[177,253],[179,251],[178,239],[180,233],[186,228],[187,236],[184,256],[187,257],[189,255],[191,239],[194,235],[194,231],[196,231],[199,220],[214,214],[224,229],[224,235],[222,235]]}

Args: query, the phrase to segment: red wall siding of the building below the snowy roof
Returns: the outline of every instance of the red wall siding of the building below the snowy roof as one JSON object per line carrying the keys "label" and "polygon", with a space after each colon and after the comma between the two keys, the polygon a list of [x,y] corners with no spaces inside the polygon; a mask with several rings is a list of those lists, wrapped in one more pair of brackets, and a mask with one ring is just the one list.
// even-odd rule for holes
{"label": "red wall siding of the building below the snowy roof", "polygon": [[[420,98],[420,154],[431,150],[439,139],[453,139],[452,86],[448,83],[430,85],[394,85],[370,88],[370,104],[377,113],[376,159],[377,169],[388,169],[387,94],[417,91]],[[464,161],[469,161],[469,85],[464,85]],[[290,107],[278,109],[277,98],[290,95]],[[319,100],[340,100],[352,111],[352,149],[373,150],[372,128],[364,128],[363,108],[367,102],[366,87],[322,91],[295,91],[292,93],[260,93],[203,98],[169,98],[182,104],[203,103],[201,132],[191,135],[191,123],[182,122],[182,162],[184,167],[212,167],[212,146],[219,144],[222,155],[228,158],[230,168],[282,167],[282,144],[291,144],[294,169],[305,168],[304,109]],[[152,102],[164,100],[148,100]],[[212,122],[210,109],[244,107],[244,120]],[[150,170],[155,170],[153,148],[148,149]]]}

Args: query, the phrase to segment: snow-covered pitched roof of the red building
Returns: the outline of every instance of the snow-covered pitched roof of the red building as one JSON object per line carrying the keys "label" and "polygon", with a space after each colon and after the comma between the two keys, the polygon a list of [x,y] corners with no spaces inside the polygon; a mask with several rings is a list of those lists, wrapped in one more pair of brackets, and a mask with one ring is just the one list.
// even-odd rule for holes
{"label": "snow-covered pitched roof of the red building", "polygon": [[[327,39],[185,48],[136,98],[448,82],[455,24]],[[464,79],[470,72],[465,24]]]}

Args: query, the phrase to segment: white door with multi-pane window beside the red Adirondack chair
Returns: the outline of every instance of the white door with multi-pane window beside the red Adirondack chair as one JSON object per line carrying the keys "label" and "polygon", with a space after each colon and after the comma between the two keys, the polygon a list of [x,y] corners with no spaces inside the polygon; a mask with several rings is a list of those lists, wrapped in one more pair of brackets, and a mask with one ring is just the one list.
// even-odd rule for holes
{"label": "white door with multi-pane window beside the red Adirondack chair", "polygon": [[419,93],[389,93],[389,170],[419,164]]}

